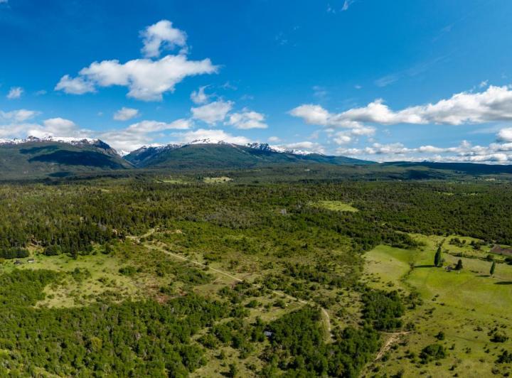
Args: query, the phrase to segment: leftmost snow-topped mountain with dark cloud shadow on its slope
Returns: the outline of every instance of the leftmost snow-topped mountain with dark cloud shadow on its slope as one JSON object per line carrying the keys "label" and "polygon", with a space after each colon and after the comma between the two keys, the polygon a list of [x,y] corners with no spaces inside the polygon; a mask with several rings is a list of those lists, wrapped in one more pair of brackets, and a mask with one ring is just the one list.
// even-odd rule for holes
{"label": "leftmost snow-topped mountain with dark cloud shadow on its slope", "polygon": [[99,139],[36,138],[0,139],[2,178],[64,176],[80,171],[132,168]]}

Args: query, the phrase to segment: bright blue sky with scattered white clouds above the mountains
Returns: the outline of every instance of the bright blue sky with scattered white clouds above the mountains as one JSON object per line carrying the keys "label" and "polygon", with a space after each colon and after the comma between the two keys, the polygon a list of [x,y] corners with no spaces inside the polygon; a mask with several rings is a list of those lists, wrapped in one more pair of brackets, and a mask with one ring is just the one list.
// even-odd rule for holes
{"label": "bright blue sky with scattered white clouds above the mountains", "polygon": [[0,138],[512,161],[507,0],[0,0]]}

